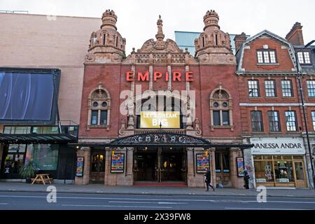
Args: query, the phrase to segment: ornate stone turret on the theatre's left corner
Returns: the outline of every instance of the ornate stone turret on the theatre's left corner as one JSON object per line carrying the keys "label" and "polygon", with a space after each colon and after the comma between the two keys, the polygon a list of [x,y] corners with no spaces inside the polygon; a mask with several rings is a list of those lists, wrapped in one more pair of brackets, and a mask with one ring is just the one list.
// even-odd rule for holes
{"label": "ornate stone turret on the theatre's left corner", "polygon": [[125,55],[126,39],[117,31],[117,15],[106,10],[102,16],[101,29],[92,32],[85,57],[86,63],[121,62]]}

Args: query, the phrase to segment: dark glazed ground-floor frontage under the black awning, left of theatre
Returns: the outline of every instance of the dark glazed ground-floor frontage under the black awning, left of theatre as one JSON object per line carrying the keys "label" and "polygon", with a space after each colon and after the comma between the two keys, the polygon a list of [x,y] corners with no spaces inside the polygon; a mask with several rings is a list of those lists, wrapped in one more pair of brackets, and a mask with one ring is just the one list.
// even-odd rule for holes
{"label": "dark glazed ground-floor frontage under the black awning, left of theatre", "polygon": [[57,126],[4,126],[0,134],[0,179],[21,179],[22,166],[33,162],[37,173],[72,180],[76,156],[74,148],[66,144],[77,141],[78,126],[62,126],[63,134],[58,132]]}

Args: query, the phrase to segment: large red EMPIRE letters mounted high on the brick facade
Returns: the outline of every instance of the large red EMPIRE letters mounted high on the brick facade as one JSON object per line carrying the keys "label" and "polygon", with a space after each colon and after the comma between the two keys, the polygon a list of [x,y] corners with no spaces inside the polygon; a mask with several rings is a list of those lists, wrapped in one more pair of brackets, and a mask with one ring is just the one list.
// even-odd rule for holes
{"label": "large red EMPIRE letters mounted high on the brick facade", "polygon": [[[169,72],[162,73],[160,71],[153,72],[153,80],[156,81],[160,78],[164,79],[165,81],[169,81],[169,79],[172,78],[173,81],[181,81],[185,80],[186,82],[193,81],[193,71],[186,71],[185,74],[182,74],[180,71],[173,71],[172,76],[170,76]],[[133,71],[127,71],[126,72],[126,80],[129,82],[132,82],[134,80],[138,81],[148,81],[149,80],[149,71],[146,71],[145,73],[142,73],[141,71],[138,71],[137,77],[134,77]]]}

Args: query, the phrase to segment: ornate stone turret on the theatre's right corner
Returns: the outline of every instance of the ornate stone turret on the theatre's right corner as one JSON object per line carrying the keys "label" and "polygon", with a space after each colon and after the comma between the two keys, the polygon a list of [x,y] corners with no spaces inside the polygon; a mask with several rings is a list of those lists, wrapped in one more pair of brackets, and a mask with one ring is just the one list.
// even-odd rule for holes
{"label": "ornate stone turret on the theatre's right corner", "polygon": [[230,45],[230,35],[220,29],[219,16],[215,10],[204,15],[204,31],[195,39],[195,56],[201,63],[236,64]]}

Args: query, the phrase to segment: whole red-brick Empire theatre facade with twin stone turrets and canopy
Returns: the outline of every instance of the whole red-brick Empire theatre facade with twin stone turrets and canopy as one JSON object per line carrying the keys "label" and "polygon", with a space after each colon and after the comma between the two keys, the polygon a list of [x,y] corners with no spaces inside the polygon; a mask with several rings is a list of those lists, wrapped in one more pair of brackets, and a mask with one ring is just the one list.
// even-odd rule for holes
{"label": "whole red-brick Empire theatre facade with twin stone turrets and canopy", "polygon": [[196,55],[155,38],[125,57],[117,15],[106,10],[85,57],[76,184],[212,183],[243,188],[237,61],[214,10]]}

